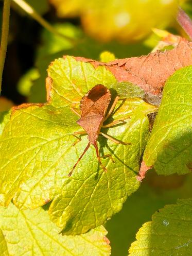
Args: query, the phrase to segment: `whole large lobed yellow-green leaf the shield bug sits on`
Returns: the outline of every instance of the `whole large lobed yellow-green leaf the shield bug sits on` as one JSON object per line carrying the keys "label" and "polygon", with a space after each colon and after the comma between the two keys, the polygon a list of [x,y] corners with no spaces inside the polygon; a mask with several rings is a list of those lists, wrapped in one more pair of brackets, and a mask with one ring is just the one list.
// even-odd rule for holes
{"label": "whole large lobed yellow-green leaf the shield bug sits on", "polygon": [[119,211],[127,196],[137,190],[136,175],[149,134],[146,114],[155,108],[142,99],[119,101],[113,118],[130,118],[103,132],[131,145],[99,138],[101,155],[111,153],[115,163],[103,159],[108,169],[104,173],[91,146],[69,178],[88,144],[82,136],[82,141],[73,146],[77,139],[72,133],[82,128],[69,107],[78,106],[81,97],[97,83],[111,88],[115,78],[103,66],[95,69],[72,57],[56,60],[49,66],[48,75],[48,104],[13,108],[3,130],[1,204],[8,205],[14,197],[19,208],[33,209],[59,194],[51,205],[51,218],[67,234],[84,233]]}

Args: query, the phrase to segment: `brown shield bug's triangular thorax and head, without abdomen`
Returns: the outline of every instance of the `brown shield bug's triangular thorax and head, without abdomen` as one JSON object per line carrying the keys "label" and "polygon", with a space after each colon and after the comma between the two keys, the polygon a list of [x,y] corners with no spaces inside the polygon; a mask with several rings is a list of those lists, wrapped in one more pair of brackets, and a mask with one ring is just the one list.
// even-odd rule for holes
{"label": "brown shield bug's triangular thorax and head, without abdomen", "polygon": [[88,139],[91,144],[94,144],[94,142],[97,140],[103,120],[104,117],[102,115],[91,111],[85,116],[81,116],[81,118],[77,121],[77,123],[86,131],[86,133],[88,133]]}

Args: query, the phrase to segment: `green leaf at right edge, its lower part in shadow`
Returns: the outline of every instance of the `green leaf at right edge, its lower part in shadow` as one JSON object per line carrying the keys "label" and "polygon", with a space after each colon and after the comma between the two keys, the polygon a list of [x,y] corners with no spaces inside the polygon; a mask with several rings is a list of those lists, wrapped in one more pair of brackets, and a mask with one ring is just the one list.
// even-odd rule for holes
{"label": "green leaf at right edge, its lower part in shadow", "polygon": [[158,174],[190,172],[192,159],[192,66],[166,82],[162,103],[147,143],[144,160]]}

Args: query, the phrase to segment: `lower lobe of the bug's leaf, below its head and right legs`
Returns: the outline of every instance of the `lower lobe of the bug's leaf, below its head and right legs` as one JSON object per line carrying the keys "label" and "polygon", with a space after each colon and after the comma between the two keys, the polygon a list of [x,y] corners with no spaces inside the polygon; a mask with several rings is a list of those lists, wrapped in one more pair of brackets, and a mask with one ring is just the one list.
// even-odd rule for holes
{"label": "lower lobe of the bug's leaf, below its head and right legs", "polygon": [[[109,159],[102,160],[107,166],[107,173],[102,169],[98,172],[98,162],[92,148],[79,163],[74,178],[64,181],[62,193],[54,199],[49,209],[51,219],[63,228],[63,233],[84,233],[104,223],[112,214],[120,211],[127,196],[137,190],[139,182],[136,181],[136,174],[148,138],[149,123],[145,111],[149,111],[149,105],[143,100],[127,100],[113,115],[115,119],[125,114],[131,116],[127,124],[108,131],[109,135],[131,145],[99,140],[103,155],[110,152],[115,160],[115,163]],[[77,152],[78,156],[87,143],[87,139],[81,142],[83,146]],[[82,169],[82,172],[78,169]]]}

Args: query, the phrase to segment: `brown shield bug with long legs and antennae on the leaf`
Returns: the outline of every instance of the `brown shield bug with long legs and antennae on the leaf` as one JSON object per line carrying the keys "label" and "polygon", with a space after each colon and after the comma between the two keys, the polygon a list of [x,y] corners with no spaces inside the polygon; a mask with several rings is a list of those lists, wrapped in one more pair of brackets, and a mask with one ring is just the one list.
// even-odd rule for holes
{"label": "brown shield bug with long legs and antennae on the leaf", "polygon": [[[71,108],[71,110],[75,114],[80,116],[80,119],[77,121],[77,124],[79,124],[84,129],[84,131],[74,132],[73,135],[78,139],[77,142],[79,142],[79,141],[81,141],[81,138],[77,136],[78,134],[79,135],[88,134],[89,143],[85,147],[82,155],[79,157],[78,161],[76,162],[76,164],[74,165],[73,169],[68,174],[68,176],[72,175],[73,170],[75,169],[75,167],[77,166],[77,164],[79,163],[81,158],[84,156],[85,152],[88,150],[88,148],[90,147],[91,144],[94,145],[94,147],[95,147],[99,164],[101,165],[103,170],[105,172],[107,172],[106,167],[104,167],[104,165],[101,163],[101,157],[99,155],[99,150],[98,150],[98,146],[97,146],[97,139],[98,139],[99,134],[103,135],[105,138],[107,138],[117,144],[119,144],[119,143],[124,144],[124,145],[129,144],[129,143],[125,143],[122,141],[118,141],[118,140],[112,138],[111,136],[100,131],[101,128],[107,128],[107,127],[117,125],[119,123],[125,122],[124,120],[129,118],[129,116],[126,116],[125,118],[123,118],[121,120],[115,120],[108,125],[103,125],[103,122],[106,121],[107,118],[113,112],[118,99],[119,99],[119,96],[116,96],[111,108],[109,109],[109,111],[107,113],[108,106],[111,101],[111,92],[107,87],[104,87],[102,84],[97,84],[95,87],[93,87],[88,93],[86,93],[82,97],[82,99],[80,101],[81,115],[77,112],[77,110],[75,108]],[[111,158],[111,155],[105,155],[102,157],[110,157]]]}

